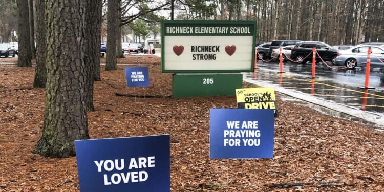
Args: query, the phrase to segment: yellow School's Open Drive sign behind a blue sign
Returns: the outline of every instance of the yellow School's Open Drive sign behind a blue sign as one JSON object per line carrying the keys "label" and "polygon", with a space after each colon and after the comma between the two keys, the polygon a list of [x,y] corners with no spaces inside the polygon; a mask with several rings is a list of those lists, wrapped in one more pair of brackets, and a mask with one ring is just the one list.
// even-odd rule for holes
{"label": "yellow School's Open Drive sign behind a blue sign", "polygon": [[273,88],[236,89],[238,108],[241,109],[274,109],[278,117],[278,106]]}

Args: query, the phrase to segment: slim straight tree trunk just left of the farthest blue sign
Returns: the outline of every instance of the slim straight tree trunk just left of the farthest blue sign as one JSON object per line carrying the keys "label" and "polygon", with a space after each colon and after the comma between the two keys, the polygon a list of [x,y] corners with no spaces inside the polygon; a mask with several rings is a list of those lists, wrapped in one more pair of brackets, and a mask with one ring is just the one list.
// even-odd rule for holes
{"label": "slim straight tree trunk just left of the farthest blue sign", "polygon": [[105,70],[116,70],[116,11],[117,0],[108,1],[106,17],[108,26],[106,27],[106,65]]}

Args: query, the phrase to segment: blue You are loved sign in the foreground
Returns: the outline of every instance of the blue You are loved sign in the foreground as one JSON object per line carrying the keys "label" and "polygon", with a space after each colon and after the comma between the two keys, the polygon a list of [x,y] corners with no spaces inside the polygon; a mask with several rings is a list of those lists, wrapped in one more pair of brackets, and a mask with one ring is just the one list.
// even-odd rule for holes
{"label": "blue You are loved sign in the foreground", "polygon": [[170,191],[169,135],[76,140],[80,191]]}

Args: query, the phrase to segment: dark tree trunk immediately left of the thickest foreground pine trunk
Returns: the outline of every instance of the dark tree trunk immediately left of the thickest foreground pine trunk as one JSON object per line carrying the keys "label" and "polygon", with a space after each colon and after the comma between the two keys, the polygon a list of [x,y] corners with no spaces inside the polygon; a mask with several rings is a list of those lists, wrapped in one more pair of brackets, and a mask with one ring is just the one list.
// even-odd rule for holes
{"label": "dark tree trunk immediately left of the thickest foreground pine trunk", "polygon": [[46,0],[36,0],[36,67],[35,78],[33,80],[34,88],[45,88],[47,82],[46,68],[46,24],[45,24],[45,5]]}

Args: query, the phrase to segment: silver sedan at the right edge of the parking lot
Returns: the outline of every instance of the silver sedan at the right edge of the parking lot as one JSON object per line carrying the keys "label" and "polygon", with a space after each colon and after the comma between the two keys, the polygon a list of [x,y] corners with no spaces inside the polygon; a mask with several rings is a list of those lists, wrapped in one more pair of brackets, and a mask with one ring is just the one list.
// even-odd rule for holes
{"label": "silver sedan at the right edge of the parking lot", "polygon": [[[382,46],[359,45],[351,49],[337,52],[337,65],[345,65],[349,69],[367,65],[368,48],[371,48],[371,65],[384,67],[384,44]],[[381,61],[380,61],[380,60]]]}

